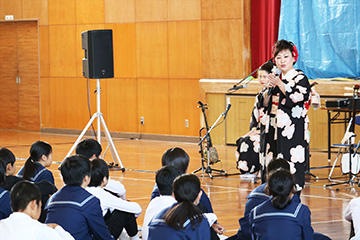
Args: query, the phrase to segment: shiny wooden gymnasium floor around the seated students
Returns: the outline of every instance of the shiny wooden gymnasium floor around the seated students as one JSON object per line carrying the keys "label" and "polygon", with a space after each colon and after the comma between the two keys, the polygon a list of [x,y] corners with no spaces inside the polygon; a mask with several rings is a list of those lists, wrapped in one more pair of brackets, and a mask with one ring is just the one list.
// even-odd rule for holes
{"label": "shiny wooden gymnasium floor around the seated students", "polygon": [[[53,164],[50,167],[54,173],[55,183],[58,188],[63,186],[59,171],[59,162],[70,150],[76,135],[41,134],[38,132],[7,131],[0,130],[0,146],[9,148],[16,156],[17,167],[24,164],[29,155],[30,145],[43,140],[53,147]],[[190,155],[189,172],[200,167],[200,156],[196,143],[165,142],[151,140],[113,139],[124,164],[126,171],[112,170],[110,176],[121,181],[127,189],[127,199],[138,202],[143,208],[143,213],[138,218],[138,224],[142,225],[144,212],[150,200],[150,193],[154,186],[154,172],[160,168],[162,153],[171,147],[181,147]],[[105,143],[105,144],[104,144]],[[103,146],[106,146],[105,139]],[[229,174],[236,174],[235,146],[216,146],[221,162],[213,165],[213,168],[222,168]],[[311,167],[328,165],[325,152],[311,151]],[[332,161],[334,161],[333,153]],[[105,160],[113,162],[110,151]],[[332,162],[331,162],[332,164]],[[312,226],[316,232],[326,234],[332,239],[348,239],[350,224],[343,219],[343,211],[349,201],[359,194],[359,187],[349,188],[343,185],[334,189],[324,189],[328,183],[329,168],[311,170],[320,180],[307,178],[306,188],[302,191],[301,201],[309,206],[312,212]],[[201,176],[201,174],[199,174]],[[335,171],[336,177],[342,177],[339,168]],[[347,180],[346,176],[340,179]],[[220,224],[226,228],[226,236],[236,233],[239,225],[238,219],[243,216],[245,197],[260,183],[241,180],[239,175],[228,177],[201,177],[202,187],[211,199],[214,212],[218,216]]]}

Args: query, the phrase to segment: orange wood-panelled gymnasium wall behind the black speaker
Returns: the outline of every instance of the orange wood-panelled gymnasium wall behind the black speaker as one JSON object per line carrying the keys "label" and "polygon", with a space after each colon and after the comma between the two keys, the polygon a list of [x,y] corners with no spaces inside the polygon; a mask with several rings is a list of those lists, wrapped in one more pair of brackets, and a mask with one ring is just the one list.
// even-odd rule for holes
{"label": "orange wood-panelled gymnasium wall behind the black speaker", "polygon": [[[84,128],[89,113],[81,32],[112,29],[115,77],[101,80],[101,112],[109,130],[198,136],[199,79],[239,79],[250,72],[250,5],[247,0],[0,0],[0,18],[38,19],[42,129]],[[91,79],[92,113],[95,87]]]}

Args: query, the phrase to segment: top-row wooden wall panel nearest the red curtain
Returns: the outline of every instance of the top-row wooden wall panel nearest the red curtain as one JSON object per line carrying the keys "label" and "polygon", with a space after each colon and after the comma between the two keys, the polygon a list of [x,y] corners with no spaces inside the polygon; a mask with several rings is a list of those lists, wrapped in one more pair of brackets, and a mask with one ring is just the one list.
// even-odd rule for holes
{"label": "top-row wooden wall panel nearest the red curtain", "polygon": [[[239,19],[247,0],[201,0],[202,19]],[[246,13],[250,14],[250,12]]]}

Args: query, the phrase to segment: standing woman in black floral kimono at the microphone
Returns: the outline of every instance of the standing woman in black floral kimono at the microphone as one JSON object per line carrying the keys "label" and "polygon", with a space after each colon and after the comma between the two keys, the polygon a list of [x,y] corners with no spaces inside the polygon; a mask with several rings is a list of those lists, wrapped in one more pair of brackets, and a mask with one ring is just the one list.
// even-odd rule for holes
{"label": "standing woman in black floral kimono at the microphone", "polygon": [[281,75],[269,74],[267,91],[259,107],[264,109],[260,122],[261,163],[272,158],[289,161],[294,174],[296,191],[305,185],[305,162],[309,159],[309,118],[311,86],[305,74],[294,68],[298,53],[296,46],[280,40],[274,44],[273,59]]}

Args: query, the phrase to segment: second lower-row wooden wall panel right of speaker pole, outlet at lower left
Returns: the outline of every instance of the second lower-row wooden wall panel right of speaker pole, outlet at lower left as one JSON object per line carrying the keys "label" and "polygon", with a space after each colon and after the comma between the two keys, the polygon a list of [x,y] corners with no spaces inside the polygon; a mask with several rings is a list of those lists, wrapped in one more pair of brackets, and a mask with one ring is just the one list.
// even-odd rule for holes
{"label": "second lower-row wooden wall panel right of speaker pole, outlet at lower left", "polygon": [[143,133],[169,134],[169,81],[138,79],[138,116],[144,117]]}

